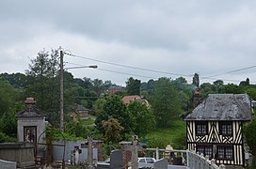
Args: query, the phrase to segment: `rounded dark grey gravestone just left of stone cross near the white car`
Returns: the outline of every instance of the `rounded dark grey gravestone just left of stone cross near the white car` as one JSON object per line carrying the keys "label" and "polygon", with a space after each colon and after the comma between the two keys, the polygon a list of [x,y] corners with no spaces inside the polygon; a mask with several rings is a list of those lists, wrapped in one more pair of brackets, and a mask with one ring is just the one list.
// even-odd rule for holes
{"label": "rounded dark grey gravestone just left of stone cross near the white car", "polygon": [[121,150],[113,150],[110,154],[110,168],[122,169],[124,168]]}

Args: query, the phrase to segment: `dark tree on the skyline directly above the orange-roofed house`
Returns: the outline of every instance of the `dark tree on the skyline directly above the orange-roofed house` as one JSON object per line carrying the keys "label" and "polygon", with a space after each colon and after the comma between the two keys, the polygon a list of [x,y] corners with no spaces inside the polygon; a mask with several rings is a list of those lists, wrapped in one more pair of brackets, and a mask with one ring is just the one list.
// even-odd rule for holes
{"label": "dark tree on the skyline directly above the orange-roofed house", "polygon": [[130,77],[126,82],[128,95],[140,95],[140,80]]}

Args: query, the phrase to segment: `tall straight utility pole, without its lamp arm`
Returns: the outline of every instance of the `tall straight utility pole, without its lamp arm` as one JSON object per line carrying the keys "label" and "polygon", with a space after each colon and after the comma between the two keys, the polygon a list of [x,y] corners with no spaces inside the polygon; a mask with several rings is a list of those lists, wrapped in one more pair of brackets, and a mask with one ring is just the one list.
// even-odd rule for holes
{"label": "tall straight utility pole, without its lamp arm", "polygon": [[63,51],[60,51],[60,133],[64,133],[64,103],[63,103]]}

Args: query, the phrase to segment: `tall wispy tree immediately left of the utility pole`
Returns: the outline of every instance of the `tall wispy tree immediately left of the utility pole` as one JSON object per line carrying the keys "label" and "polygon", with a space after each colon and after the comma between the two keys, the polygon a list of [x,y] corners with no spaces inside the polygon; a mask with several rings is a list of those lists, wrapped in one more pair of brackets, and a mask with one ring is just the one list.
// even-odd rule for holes
{"label": "tall wispy tree immediately left of the utility pole", "polygon": [[35,59],[31,59],[29,69],[26,70],[28,84],[25,95],[36,98],[38,106],[51,123],[59,119],[56,114],[59,112],[58,69],[58,52],[52,50],[51,54],[40,52]]}

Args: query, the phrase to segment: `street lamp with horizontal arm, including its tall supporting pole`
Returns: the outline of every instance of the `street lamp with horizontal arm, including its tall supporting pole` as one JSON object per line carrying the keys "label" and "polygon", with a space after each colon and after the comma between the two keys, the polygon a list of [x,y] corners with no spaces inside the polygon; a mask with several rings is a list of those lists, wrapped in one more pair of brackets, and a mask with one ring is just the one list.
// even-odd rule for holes
{"label": "street lamp with horizontal arm, including its tall supporting pole", "polygon": [[[63,101],[63,51],[60,51],[60,133],[64,133],[64,101]],[[97,69],[97,65],[92,66],[81,66],[81,67],[71,67],[66,69],[82,69],[82,68],[91,68]]]}

